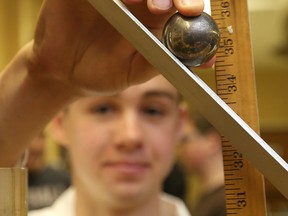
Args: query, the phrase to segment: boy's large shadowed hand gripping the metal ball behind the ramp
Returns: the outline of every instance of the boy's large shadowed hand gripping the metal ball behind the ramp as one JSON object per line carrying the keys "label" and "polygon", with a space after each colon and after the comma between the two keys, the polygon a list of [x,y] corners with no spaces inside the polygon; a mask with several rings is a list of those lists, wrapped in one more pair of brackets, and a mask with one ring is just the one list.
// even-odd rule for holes
{"label": "boy's large shadowed hand gripping the metal ball behind the ramp", "polygon": [[[157,35],[176,9],[185,15],[203,10],[202,0],[123,2]],[[32,75],[78,93],[117,92],[157,74],[86,0],[44,0],[30,59]]]}

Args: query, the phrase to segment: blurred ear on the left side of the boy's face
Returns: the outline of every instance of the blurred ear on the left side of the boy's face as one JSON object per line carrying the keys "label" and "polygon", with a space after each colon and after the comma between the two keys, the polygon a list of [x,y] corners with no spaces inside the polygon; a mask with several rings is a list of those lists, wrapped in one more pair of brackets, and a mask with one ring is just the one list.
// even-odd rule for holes
{"label": "blurred ear on the left side of the boy's face", "polygon": [[50,130],[53,138],[62,146],[67,146],[65,134],[65,111],[59,112],[50,122]]}

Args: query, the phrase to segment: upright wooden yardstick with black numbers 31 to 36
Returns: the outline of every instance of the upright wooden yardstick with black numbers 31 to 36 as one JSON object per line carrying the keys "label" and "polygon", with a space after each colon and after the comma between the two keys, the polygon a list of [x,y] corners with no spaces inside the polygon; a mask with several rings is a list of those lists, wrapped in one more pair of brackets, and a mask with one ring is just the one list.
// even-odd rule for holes
{"label": "upright wooden yardstick with black numbers 31 to 36", "polygon": [[[220,32],[215,76],[219,97],[259,133],[255,74],[246,0],[211,0]],[[262,174],[225,137],[223,162],[227,215],[266,215]]]}

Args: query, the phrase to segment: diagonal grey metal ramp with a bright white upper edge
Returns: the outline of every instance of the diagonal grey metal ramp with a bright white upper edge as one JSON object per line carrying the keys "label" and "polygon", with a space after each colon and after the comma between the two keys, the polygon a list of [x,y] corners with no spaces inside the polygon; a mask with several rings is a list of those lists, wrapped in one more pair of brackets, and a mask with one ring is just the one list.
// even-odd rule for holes
{"label": "diagonal grey metal ramp with a bright white upper edge", "polygon": [[118,0],[88,0],[288,199],[288,164]]}

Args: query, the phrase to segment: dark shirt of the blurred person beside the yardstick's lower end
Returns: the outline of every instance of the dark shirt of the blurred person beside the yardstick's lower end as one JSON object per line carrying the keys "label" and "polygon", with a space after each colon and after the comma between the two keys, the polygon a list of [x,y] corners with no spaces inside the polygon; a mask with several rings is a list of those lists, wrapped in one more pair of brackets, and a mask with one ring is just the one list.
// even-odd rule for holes
{"label": "dark shirt of the blurred person beside the yardstick's lower end", "polygon": [[226,216],[226,199],[224,186],[203,195],[191,210],[192,216]]}

